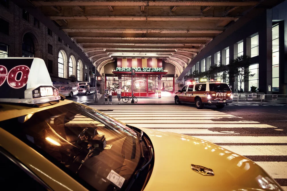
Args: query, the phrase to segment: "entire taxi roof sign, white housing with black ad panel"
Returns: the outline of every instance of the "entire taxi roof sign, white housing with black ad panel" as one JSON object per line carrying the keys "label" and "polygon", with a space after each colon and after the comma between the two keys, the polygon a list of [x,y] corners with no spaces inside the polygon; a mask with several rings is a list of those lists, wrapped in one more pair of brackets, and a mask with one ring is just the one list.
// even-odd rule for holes
{"label": "entire taxi roof sign, white housing with black ad panel", "polygon": [[44,60],[0,58],[0,102],[38,104],[60,100]]}

